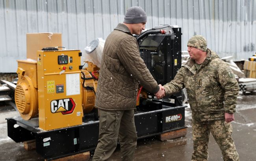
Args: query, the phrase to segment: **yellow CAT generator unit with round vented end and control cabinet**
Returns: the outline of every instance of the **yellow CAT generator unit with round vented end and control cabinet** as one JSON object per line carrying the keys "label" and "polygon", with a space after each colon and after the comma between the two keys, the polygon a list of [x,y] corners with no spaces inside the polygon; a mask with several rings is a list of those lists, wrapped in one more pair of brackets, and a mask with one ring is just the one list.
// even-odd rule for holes
{"label": "yellow CAT generator unit with round vented end and control cabinet", "polygon": [[[45,37],[32,36],[38,35]],[[43,130],[82,124],[83,113],[95,106],[99,68],[87,62],[88,67],[82,69],[80,50],[43,48],[37,51],[37,60],[34,55],[29,55],[33,59],[17,60],[15,102],[22,119],[38,117]]]}

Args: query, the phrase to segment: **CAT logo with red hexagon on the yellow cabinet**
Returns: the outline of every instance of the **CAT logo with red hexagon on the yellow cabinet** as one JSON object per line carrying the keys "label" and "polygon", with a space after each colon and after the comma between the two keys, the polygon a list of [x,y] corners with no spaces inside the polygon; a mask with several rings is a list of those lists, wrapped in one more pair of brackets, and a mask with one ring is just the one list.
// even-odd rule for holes
{"label": "CAT logo with red hexagon on the yellow cabinet", "polygon": [[57,99],[51,101],[51,112],[61,112],[63,115],[70,114],[74,111],[76,103],[72,98],[69,99]]}

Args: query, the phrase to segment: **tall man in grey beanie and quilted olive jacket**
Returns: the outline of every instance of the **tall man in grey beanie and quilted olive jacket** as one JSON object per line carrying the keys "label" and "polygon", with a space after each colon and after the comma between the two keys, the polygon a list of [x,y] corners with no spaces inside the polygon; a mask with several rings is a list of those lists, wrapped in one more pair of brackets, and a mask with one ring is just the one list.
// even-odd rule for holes
{"label": "tall man in grey beanie and quilted olive jacket", "polygon": [[106,39],[95,106],[99,112],[99,139],[93,160],[107,160],[121,145],[121,159],[132,161],[137,145],[134,123],[138,85],[164,95],[140,57],[133,34],[145,29],[147,15],[141,7],[127,9],[124,22],[119,23]]}

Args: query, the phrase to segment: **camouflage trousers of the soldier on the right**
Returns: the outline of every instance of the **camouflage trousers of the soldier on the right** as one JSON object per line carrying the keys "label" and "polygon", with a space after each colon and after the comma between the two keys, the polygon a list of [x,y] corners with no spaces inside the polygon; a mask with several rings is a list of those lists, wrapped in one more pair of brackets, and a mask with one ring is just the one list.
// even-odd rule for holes
{"label": "camouflage trousers of the soldier on the right", "polygon": [[225,120],[198,122],[192,121],[194,152],[192,161],[208,160],[209,135],[213,135],[221,148],[224,161],[239,161],[238,153],[232,139],[232,124]]}

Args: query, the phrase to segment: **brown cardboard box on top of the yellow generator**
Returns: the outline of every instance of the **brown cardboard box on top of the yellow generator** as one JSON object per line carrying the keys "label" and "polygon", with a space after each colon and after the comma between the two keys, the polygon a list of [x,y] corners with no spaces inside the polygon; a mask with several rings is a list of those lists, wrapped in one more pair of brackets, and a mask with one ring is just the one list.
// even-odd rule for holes
{"label": "brown cardboard box on top of the yellow generator", "polygon": [[37,60],[37,51],[62,46],[61,33],[27,33],[27,59]]}

